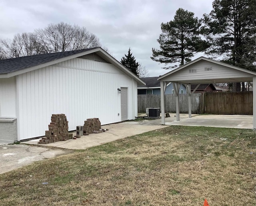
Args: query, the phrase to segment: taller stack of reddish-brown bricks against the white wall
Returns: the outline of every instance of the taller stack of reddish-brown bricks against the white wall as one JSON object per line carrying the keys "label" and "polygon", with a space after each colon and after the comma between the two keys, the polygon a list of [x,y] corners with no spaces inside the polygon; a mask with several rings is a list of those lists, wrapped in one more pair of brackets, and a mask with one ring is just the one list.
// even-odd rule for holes
{"label": "taller stack of reddish-brown bricks against the white wall", "polygon": [[38,144],[48,144],[56,141],[70,139],[68,135],[68,121],[65,114],[52,114],[52,122],[48,125],[49,130],[45,131],[45,137]]}

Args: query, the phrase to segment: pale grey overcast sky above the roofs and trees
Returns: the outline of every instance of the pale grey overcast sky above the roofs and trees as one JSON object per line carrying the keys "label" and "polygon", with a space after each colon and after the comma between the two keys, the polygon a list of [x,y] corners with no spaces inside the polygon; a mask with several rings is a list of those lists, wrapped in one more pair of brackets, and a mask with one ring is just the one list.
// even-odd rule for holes
{"label": "pale grey overcast sky above the roofs and trees", "polygon": [[[202,18],[212,10],[213,0],[1,0],[0,39],[32,32],[48,24],[77,24],[94,33],[118,61],[129,47],[150,77],[168,70],[150,59],[161,33],[161,23],[173,20],[183,8]],[[201,56],[197,55],[196,57]],[[194,57],[194,59],[196,58]]]}

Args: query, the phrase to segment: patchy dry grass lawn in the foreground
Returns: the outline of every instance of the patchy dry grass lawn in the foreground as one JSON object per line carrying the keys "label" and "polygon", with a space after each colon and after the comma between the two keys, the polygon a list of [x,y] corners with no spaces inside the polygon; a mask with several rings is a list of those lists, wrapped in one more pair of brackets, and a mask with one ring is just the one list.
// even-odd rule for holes
{"label": "patchy dry grass lawn in the foreground", "polygon": [[253,130],[171,126],[0,175],[3,206],[202,206],[204,198],[256,205]]}

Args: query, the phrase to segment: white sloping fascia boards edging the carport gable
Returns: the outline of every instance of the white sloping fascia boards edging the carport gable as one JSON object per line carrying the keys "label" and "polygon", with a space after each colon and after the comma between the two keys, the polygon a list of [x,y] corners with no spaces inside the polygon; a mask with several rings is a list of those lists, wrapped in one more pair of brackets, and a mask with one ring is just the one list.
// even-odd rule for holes
{"label": "white sloping fascia boards edging the carport gable", "polygon": [[171,74],[173,74],[173,73],[175,73],[175,72],[177,72],[177,71],[180,71],[181,69],[183,69],[183,68],[185,68],[185,67],[188,67],[188,66],[190,66],[190,65],[192,65],[192,64],[194,64],[194,63],[196,63],[196,62],[198,62],[198,61],[200,61],[200,60],[209,61],[209,62],[218,64],[218,65],[222,65],[222,66],[224,66],[224,67],[229,67],[229,68],[236,69],[236,70],[238,70],[238,71],[242,71],[242,72],[249,73],[249,74],[252,74],[252,75],[255,75],[255,76],[256,76],[256,72],[249,71],[249,70],[247,70],[247,69],[242,69],[242,68],[240,68],[240,67],[236,67],[236,66],[233,66],[233,65],[228,65],[228,64],[226,64],[226,63],[222,63],[222,62],[220,62],[220,61],[216,61],[216,60],[213,60],[213,59],[210,59],[210,58],[199,57],[198,59],[195,59],[194,61],[190,61],[189,63],[186,63],[186,64],[182,65],[181,67],[178,67],[178,68],[176,68],[176,69],[174,69],[174,70],[172,70],[172,71],[166,73],[165,75],[162,75],[162,76],[159,77],[157,80],[160,80],[160,81],[161,81],[162,78],[167,77],[167,76],[169,76],[169,75],[171,75]]}

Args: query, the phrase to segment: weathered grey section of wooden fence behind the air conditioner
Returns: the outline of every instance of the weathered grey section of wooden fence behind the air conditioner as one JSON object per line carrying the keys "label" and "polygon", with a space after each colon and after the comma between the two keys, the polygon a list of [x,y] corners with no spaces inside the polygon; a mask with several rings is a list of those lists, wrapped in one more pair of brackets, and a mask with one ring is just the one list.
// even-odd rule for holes
{"label": "weathered grey section of wooden fence behind the air conditioner", "polygon": [[[201,108],[201,93],[191,94],[192,114],[199,114]],[[176,101],[174,94],[165,94],[165,112],[176,112]],[[188,113],[188,94],[180,94],[180,113]],[[160,107],[161,96],[156,94],[138,95],[138,113],[145,113],[146,108]]]}

